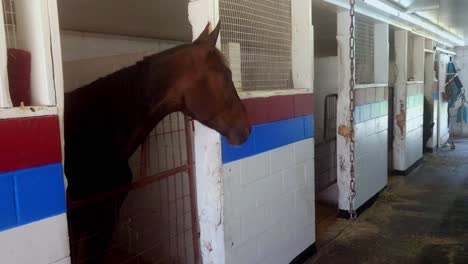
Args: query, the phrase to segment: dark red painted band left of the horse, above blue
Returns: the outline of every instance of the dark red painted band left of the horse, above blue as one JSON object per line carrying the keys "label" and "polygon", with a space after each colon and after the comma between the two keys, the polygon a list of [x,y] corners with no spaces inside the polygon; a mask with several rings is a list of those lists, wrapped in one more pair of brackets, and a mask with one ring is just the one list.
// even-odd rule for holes
{"label": "dark red painted band left of the horse, above blue", "polygon": [[0,120],[0,173],[62,161],[57,116]]}

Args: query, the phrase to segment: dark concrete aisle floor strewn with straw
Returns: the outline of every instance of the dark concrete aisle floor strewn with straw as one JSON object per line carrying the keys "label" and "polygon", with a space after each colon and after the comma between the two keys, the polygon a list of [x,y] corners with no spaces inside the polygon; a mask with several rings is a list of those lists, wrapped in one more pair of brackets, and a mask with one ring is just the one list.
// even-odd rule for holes
{"label": "dark concrete aisle floor strewn with straw", "polygon": [[307,264],[468,263],[468,140],[426,154],[356,221],[318,207],[317,253]]}

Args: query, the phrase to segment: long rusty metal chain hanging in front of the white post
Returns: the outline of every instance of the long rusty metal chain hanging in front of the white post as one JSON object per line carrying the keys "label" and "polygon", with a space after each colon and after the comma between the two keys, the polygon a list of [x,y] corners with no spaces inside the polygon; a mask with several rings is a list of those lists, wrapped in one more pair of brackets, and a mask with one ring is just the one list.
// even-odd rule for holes
{"label": "long rusty metal chain hanging in front of the white post", "polygon": [[355,38],[354,38],[354,5],[356,0],[349,0],[350,9],[349,15],[351,17],[351,25],[349,27],[349,60],[350,65],[349,68],[351,70],[351,78],[349,80],[349,112],[350,112],[350,127],[351,127],[351,138],[349,144],[349,163],[350,163],[350,176],[351,180],[349,183],[349,217],[351,219],[356,219],[356,210],[354,209],[354,198],[356,197],[356,189],[355,189],[355,175],[354,175],[354,86],[356,84],[356,80],[354,79],[354,56],[355,56]]}

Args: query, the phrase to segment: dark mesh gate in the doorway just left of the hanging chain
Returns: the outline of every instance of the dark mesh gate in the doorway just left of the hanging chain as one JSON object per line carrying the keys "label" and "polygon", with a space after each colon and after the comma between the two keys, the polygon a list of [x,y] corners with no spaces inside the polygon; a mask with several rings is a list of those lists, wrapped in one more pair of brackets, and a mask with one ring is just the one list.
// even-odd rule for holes
{"label": "dark mesh gate in the doorway just left of the hanging chain", "polygon": [[325,97],[323,141],[315,145],[315,191],[325,190],[336,183],[336,106],[338,95]]}

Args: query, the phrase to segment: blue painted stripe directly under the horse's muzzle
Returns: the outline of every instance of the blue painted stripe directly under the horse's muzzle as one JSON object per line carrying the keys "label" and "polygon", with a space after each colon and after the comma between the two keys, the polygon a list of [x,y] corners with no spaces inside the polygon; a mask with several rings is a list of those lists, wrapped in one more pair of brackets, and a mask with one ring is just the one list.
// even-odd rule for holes
{"label": "blue painted stripe directly under the horse's muzzle", "polygon": [[313,115],[254,125],[249,139],[241,146],[229,145],[225,137],[221,138],[223,163],[244,159],[313,137]]}

